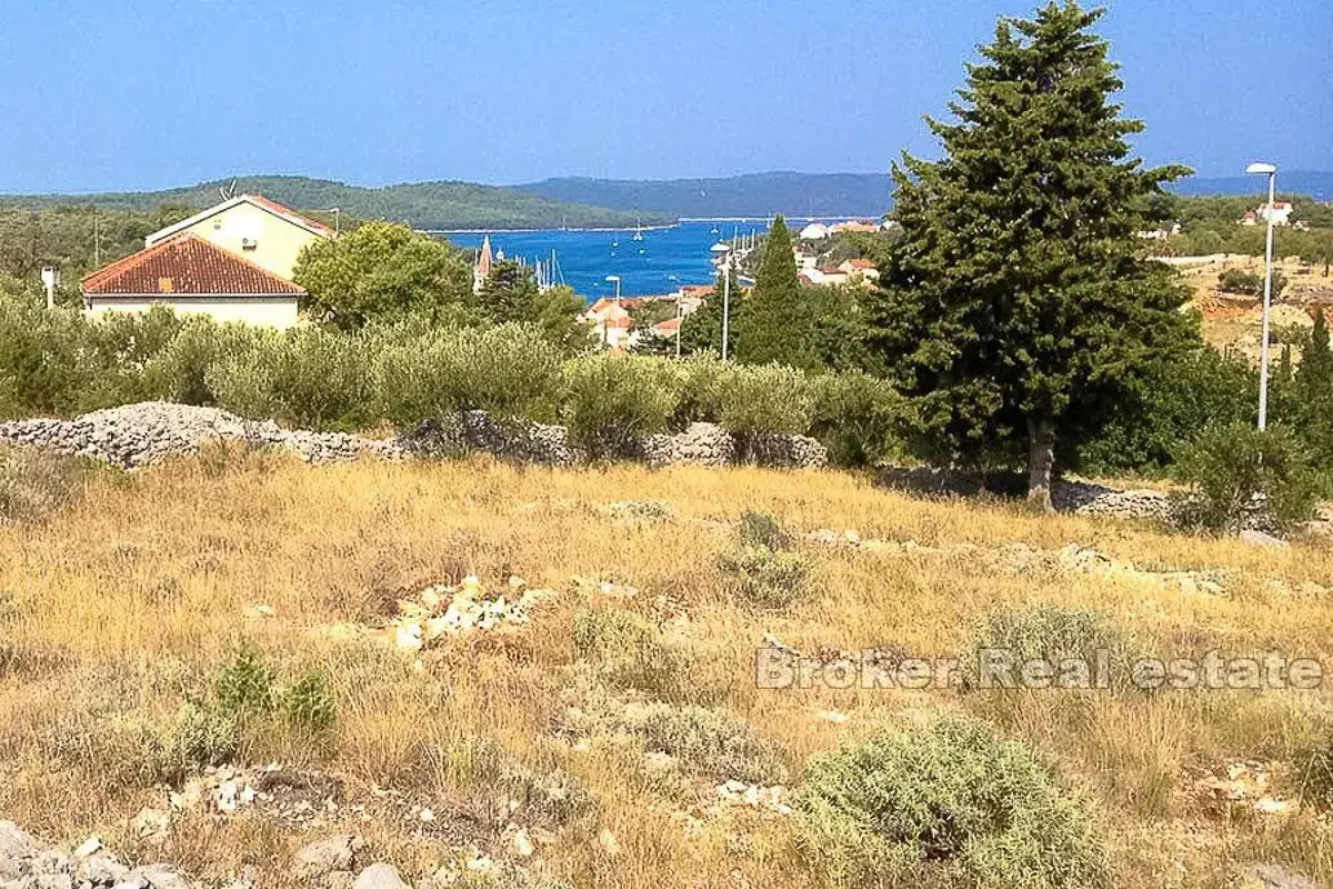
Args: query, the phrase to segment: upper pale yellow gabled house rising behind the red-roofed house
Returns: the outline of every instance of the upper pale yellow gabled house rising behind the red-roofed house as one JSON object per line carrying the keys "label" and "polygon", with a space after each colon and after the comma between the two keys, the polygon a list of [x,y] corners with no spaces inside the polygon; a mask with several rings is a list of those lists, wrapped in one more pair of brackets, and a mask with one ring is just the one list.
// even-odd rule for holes
{"label": "upper pale yellow gabled house rising behind the red-roofed house", "polygon": [[144,239],[144,247],[155,247],[185,232],[244,256],[287,280],[292,280],[292,269],[301,248],[321,237],[333,237],[333,229],[328,225],[307,219],[263,195],[237,195],[153,232]]}

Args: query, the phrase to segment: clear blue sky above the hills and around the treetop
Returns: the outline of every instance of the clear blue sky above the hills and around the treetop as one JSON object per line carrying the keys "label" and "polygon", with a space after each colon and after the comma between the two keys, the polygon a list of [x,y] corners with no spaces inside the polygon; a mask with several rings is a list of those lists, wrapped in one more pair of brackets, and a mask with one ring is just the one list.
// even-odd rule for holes
{"label": "clear blue sky above the hills and around the treetop", "polygon": [[[0,192],[884,171],[932,153],[921,115],[997,15],[1034,5],[0,3]],[[1333,169],[1333,3],[1109,5],[1149,161]]]}

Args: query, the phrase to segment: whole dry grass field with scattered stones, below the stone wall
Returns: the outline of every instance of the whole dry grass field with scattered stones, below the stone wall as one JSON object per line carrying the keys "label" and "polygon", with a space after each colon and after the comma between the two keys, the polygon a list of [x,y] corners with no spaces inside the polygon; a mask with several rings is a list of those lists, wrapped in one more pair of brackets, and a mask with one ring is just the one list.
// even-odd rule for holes
{"label": "whole dry grass field with scattered stones, below the stone wall", "polygon": [[[745,510],[777,517],[808,566],[780,608],[748,602],[718,565]],[[821,529],[877,545],[809,536]],[[1058,557],[1069,544],[1101,554],[1093,569]],[[399,600],[467,576],[487,589],[517,576],[551,596],[525,624],[400,649],[387,629]],[[1253,549],[913,500],[840,472],[309,468],[219,452],[97,474],[47,521],[0,525],[0,818],[67,848],[96,833],[124,858],[219,884],[252,868],[259,885],[301,885],[295,850],[355,832],[369,860],[409,882],[484,853],[527,874],[495,885],[825,885],[793,838],[798,814],[729,804],[717,785],[781,784],[790,796],[812,754],[884,725],[968,713],[1086,790],[1118,886],[1226,886],[1253,862],[1328,884],[1333,821],[1301,802],[1297,777],[1302,757],[1329,744],[1328,686],[1149,694],[754,680],[765,634],[825,657],[934,657],[1013,604],[1096,609],[1140,652],[1277,650],[1333,665],[1325,585],[1333,552],[1314,542]],[[620,637],[599,636],[615,624],[607,612],[651,628],[653,656],[613,669]],[[247,717],[228,765],[276,762],[336,782],[332,804],[221,812],[208,792],[172,809],[171,790],[191,778],[163,764],[179,746],[172,732],[243,645],[277,686],[311,669],[327,676],[336,718],[316,732]],[[721,761],[664,742],[669,732],[655,741],[624,728],[627,709],[659,704],[686,720],[708,708],[726,725],[744,721],[750,744]],[[145,826],[145,809],[169,820]]]}

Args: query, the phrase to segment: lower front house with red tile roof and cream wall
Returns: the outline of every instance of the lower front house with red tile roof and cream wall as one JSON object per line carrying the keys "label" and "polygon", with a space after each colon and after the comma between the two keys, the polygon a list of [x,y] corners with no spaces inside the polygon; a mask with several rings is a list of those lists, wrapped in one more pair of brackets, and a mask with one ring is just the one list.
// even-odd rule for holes
{"label": "lower front house with red tile roof and cream wall", "polygon": [[180,231],[83,280],[91,315],[147,312],[165,305],[177,315],[208,315],[287,329],[295,327],[300,287],[247,256]]}

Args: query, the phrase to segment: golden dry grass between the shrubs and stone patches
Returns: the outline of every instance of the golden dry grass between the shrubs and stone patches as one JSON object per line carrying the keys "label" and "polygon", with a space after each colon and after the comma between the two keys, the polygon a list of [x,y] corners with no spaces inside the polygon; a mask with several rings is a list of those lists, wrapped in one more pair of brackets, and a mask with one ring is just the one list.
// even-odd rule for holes
{"label": "golden dry grass between the shrubs and stone patches", "polygon": [[[668,501],[674,516],[625,521],[604,509],[649,498]],[[770,512],[793,532],[850,528],[926,545],[1080,542],[1157,569],[1225,569],[1226,593],[801,544],[810,592],[785,613],[756,613],[732,600],[716,568],[745,509]],[[329,629],[383,625],[400,592],[469,573],[488,584],[519,574],[560,596],[520,632],[452,642],[421,669],[372,633]],[[579,886],[817,885],[788,820],[736,812],[688,832],[681,812],[690,800],[655,790],[624,752],[584,752],[553,733],[577,682],[571,626],[587,605],[572,574],[633,584],[641,592],[631,608],[651,609],[657,596],[684,602],[686,633],[708,656],[697,676],[676,681],[714,689],[721,706],[780,745],[793,776],[809,754],[885,721],[970,710],[1090,789],[1120,885],[1225,885],[1248,861],[1333,880],[1326,817],[1218,817],[1197,805],[1184,778],[1186,768],[1234,760],[1289,762],[1328,730],[1326,689],[1049,693],[1000,705],[956,690],[761,690],[752,674],[765,632],[802,650],[950,654],[969,621],[1004,602],[1101,609],[1142,650],[1278,649],[1333,664],[1333,608],[1301,592],[1305,581],[1333,581],[1333,553],[1313,544],[1257,550],[1000,504],[917,501],[836,472],[569,472],[487,460],[312,469],[264,457],[96,478],[81,502],[45,525],[0,526],[0,648],[8,652],[0,661],[0,818],[52,842],[96,832],[112,848],[208,878],[251,864],[265,885],[283,885],[292,850],[309,833],[259,816],[192,814],[148,850],[127,826],[141,806],[160,804],[161,792],[139,768],[125,726],[169,720],[185,693],[207,689],[249,641],[284,676],[324,669],[339,706],[319,744],[277,729],[248,734],[249,762],[295,762],[353,789],[393,788],[449,810],[485,789],[463,786],[431,750],[483,736],[535,770],[565,769],[593,798],[591,814],[555,829],[557,841],[539,852],[553,877]],[[245,617],[256,604],[276,616]],[[832,709],[849,718],[821,717]],[[363,833],[412,878],[449,854],[401,820],[335,820],[324,830],[339,826]],[[603,828],[619,854],[597,842]]]}

